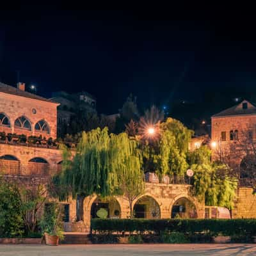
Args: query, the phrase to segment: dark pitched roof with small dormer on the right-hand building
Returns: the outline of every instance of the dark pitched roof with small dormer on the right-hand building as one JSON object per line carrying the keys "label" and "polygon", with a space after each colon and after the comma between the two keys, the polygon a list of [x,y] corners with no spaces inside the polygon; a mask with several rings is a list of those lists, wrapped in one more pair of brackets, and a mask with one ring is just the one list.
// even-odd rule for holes
{"label": "dark pitched roof with small dormer on the right-hand building", "polygon": [[[243,103],[248,104],[248,108],[243,109]],[[248,102],[247,100],[243,100],[243,102],[233,106],[232,108],[225,109],[218,114],[213,115],[212,117],[220,117],[220,116],[236,116],[236,115],[256,115],[256,107]]]}

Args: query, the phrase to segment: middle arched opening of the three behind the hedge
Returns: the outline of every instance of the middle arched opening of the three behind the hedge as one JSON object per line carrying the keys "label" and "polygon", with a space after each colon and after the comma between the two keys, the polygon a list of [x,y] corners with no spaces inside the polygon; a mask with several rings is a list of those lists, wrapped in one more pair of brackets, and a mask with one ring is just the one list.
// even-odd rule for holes
{"label": "middle arched opening of the three behind the hedge", "polygon": [[134,218],[159,219],[161,216],[159,204],[151,196],[142,196],[134,204],[133,216]]}

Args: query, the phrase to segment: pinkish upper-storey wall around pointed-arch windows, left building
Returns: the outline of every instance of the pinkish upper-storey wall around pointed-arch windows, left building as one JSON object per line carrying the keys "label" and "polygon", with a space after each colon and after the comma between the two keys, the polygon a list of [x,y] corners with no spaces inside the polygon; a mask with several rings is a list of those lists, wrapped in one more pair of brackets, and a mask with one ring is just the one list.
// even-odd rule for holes
{"label": "pinkish upper-storey wall around pointed-arch windows, left building", "polygon": [[[58,104],[8,93],[0,93],[0,95],[0,112],[8,116],[11,124],[10,128],[0,125],[0,131],[26,134],[27,136],[42,134],[45,138],[56,138]],[[32,109],[35,109],[36,113],[33,113]],[[15,129],[14,122],[20,116],[26,116],[28,118],[31,123],[31,131],[27,129]],[[35,124],[40,120],[45,120],[49,125],[49,134],[46,132],[35,132]]]}

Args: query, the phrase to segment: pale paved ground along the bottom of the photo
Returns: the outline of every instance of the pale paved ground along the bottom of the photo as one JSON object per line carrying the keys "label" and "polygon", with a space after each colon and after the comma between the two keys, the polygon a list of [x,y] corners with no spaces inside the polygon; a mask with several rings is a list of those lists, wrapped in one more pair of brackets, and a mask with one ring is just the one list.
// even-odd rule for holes
{"label": "pale paved ground along the bottom of the photo", "polygon": [[256,244],[0,245],[1,256],[255,256]]}

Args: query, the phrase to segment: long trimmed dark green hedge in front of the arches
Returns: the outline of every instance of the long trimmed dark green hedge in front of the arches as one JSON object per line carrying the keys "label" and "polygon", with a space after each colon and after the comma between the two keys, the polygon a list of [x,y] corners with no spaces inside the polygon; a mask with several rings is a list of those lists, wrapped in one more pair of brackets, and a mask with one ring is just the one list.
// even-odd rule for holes
{"label": "long trimmed dark green hedge in front of the arches", "polygon": [[182,232],[184,234],[211,234],[212,236],[256,236],[256,219],[235,220],[178,220],[178,219],[93,219],[94,233],[137,233],[161,234]]}

